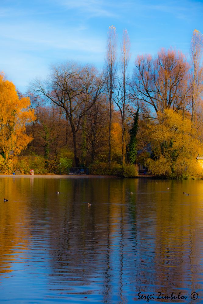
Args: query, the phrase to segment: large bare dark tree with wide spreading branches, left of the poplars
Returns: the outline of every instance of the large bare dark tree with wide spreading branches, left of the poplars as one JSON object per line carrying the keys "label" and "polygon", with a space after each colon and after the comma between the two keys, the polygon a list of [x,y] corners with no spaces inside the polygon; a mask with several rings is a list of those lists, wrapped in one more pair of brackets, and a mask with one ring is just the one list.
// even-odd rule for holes
{"label": "large bare dark tree with wide spreading branches, left of the poplars", "polygon": [[77,135],[83,117],[102,94],[103,84],[103,75],[94,67],[81,67],[70,62],[52,66],[45,82],[36,80],[33,84],[35,92],[43,94],[65,111],[72,130],[76,167],[80,164]]}

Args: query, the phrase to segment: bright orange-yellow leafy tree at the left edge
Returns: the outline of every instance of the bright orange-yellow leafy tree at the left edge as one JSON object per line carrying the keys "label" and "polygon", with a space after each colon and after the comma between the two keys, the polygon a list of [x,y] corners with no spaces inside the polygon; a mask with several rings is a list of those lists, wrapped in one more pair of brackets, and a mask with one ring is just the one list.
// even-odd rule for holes
{"label": "bright orange-yellow leafy tree at the left edge", "polygon": [[35,119],[29,109],[30,98],[19,98],[12,82],[0,74],[0,155],[8,159],[10,151],[19,154],[32,140],[25,125]]}

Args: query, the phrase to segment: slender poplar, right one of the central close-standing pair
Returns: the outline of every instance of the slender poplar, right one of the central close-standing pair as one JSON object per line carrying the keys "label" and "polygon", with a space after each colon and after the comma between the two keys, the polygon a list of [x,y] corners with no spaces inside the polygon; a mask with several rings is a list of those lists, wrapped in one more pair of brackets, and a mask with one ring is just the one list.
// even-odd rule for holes
{"label": "slender poplar, right one of the central close-standing pair", "polygon": [[130,39],[127,30],[123,31],[123,39],[121,44],[121,79],[118,80],[116,96],[114,98],[119,111],[121,113],[122,123],[122,164],[125,164],[125,153],[126,153],[126,107],[128,107],[128,74],[127,68],[130,60]]}

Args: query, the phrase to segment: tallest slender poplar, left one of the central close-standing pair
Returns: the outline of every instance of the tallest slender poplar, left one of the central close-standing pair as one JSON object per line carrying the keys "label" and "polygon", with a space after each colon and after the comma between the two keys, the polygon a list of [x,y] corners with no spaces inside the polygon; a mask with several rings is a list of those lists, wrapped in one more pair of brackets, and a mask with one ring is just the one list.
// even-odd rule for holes
{"label": "tallest slender poplar, left one of the central close-standing pair", "polygon": [[112,126],[112,111],[113,111],[113,94],[115,89],[115,78],[117,71],[117,36],[115,26],[110,26],[107,36],[107,52],[105,62],[107,95],[109,102],[109,154],[108,161],[111,161],[111,126]]}

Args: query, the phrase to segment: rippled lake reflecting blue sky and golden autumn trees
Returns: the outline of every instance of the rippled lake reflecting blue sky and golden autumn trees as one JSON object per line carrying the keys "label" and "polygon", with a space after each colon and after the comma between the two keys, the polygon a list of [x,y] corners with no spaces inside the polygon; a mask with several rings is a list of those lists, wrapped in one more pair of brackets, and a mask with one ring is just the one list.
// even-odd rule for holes
{"label": "rippled lake reflecting blue sky and golden autumn trees", "polygon": [[0,302],[203,302],[203,181],[13,175],[0,192]]}

